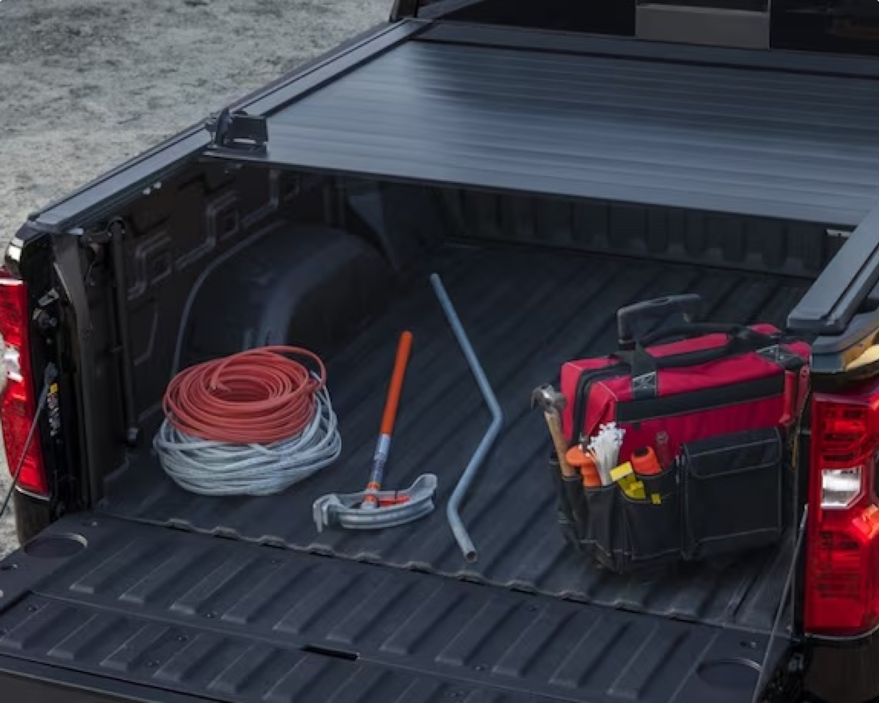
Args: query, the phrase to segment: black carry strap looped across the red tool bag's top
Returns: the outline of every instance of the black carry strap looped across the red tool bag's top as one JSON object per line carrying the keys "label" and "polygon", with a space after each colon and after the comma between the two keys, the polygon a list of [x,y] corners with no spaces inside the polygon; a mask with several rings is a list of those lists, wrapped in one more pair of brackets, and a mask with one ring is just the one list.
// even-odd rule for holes
{"label": "black carry strap looped across the red tool bag's top", "polygon": [[[672,339],[702,337],[708,334],[725,334],[726,344],[714,349],[698,352],[683,352],[664,357],[654,357],[648,352],[648,345]],[[700,366],[720,359],[730,359],[748,352],[757,352],[766,346],[779,343],[779,337],[752,330],[750,327],[731,324],[694,323],[682,327],[658,330],[636,341],[631,352],[616,352],[619,359],[630,369],[632,376],[632,397],[635,399],[657,396],[657,373],[662,369]]]}

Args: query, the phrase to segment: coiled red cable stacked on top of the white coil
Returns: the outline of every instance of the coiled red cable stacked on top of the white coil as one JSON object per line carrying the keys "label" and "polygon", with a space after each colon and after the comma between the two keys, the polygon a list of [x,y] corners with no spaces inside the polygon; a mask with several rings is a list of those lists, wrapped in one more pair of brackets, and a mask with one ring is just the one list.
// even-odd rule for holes
{"label": "coiled red cable stacked on top of the white coil", "polygon": [[[288,359],[311,360],[307,366]],[[315,395],[326,368],[315,353],[266,346],[207,361],[178,373],[165,391],[164,415],[192,437],[235,444],[269,444],[305,430],[316,413]]]}

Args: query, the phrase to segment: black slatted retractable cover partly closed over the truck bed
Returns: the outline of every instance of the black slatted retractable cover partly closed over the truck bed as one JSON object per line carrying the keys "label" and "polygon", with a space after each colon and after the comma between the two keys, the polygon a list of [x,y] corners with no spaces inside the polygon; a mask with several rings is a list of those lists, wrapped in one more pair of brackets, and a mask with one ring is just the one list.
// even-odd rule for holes
{"label": "black slatted retractable cover partly closed over the truck bed", "polygon": [[219,156],[840,226],[879,195],[875,76],[796,70],[787,54],[782,69],[646,62],[631,42],[564,50],[551,33],[505,47],[498,33],[415,34],[273,109],[265,154]]}

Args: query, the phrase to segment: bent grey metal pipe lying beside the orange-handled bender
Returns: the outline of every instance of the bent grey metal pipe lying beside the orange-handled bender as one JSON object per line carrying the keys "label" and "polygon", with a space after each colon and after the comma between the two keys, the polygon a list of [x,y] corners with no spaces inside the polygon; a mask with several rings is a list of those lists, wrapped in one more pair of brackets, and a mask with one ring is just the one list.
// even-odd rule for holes
{"label": "bent grey metal pipe lying beside the orange-handled bender", "polygon": [[485,432],[483,440],[479,443],[479,446],[476,447],[476,452],[470,457],[470,462],[467,465],[467,468],[464,469],[464,473],[461,475],[458,485],[455,486],[452,497],[449,498],[446,507],[448,524],[452,528],[454,539],[457,540],[458,546],[461,547],[461,552],[463,552],[464,558],[467,559],[468,562],[476,562],[476,559],[478,558],[476,547],[473,544],[473,540],[470,539],[467,528],[464,526],[463,522],[461,522],[461,515],[458,512],[458,509],[461,505],[461,500],[463,499],[464,494],[467,493],[467,490],[470,487],[470,483],[473,482],[473,477],[476,475],[476,471],[482,466],[485,457],[490,452],[491,447],[494,445],[495,440],[500,434],[501,428],[504,426],[504,412],[500,409],[498,398],[494,395],[494,391],[491,390],[489,380],[486,378],[485,372],[483,371],[483,366],[479,363],[479,359],[476,358],[476,352],[473,351],[473,347],[470,345],[467,332],[464,331],[464,328],[461,325],[461,320],[458,318],[458,314],[454,310],[454,305],[452,305],[452,301],[449,300],[446,288],[442,285],[442,280],[439,279],[438,274],[432,274],[431,285],[433,286],[433,292],[439,300],[439,305],[442,306],[443,312],[446,313],[448,324],[452,328],[455,338],[458,340],[461,352],[463,353],[464,358],[467,359],[470,371],[476,379],[476,384],[479,386],[479,390],[482,391],[485,403],[489,406],[491,411],[491,424],[489,425],[489,429]]}

